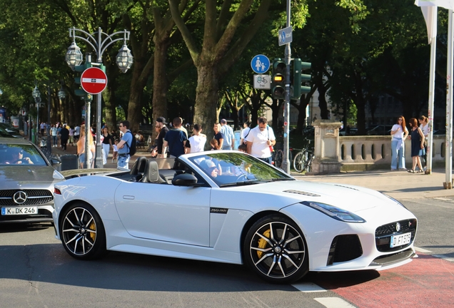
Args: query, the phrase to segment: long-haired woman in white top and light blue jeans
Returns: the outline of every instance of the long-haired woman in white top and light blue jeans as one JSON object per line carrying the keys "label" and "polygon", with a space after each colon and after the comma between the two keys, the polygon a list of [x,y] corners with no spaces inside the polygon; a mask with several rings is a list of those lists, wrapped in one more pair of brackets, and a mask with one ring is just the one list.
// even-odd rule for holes
{"label": "long-haired woman in white top and light blue jeans", "polygon": [[408,129],[405,125],[405,118],[398,117],[397,123],[391,128],[391,171],[405,169],[405,139],[408,136]]}

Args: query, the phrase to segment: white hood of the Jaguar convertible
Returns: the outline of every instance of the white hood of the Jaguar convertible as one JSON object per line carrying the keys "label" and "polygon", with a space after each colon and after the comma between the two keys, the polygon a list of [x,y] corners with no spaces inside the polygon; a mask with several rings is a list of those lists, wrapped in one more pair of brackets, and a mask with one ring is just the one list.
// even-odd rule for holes
{"label": "white hood of the Jaguar convertible", "polygon": [[287,199],[288,205],[291,202],[301,201],[323,202],[351,212],[360,212],[390,204],[395,205],[394,202],[390,202],[391,200],[388,197],[376,190],[336,183],[313,183],[296,180],[246,185],[236,189],[249,193],[265,193],[278,198],[284,197]]}

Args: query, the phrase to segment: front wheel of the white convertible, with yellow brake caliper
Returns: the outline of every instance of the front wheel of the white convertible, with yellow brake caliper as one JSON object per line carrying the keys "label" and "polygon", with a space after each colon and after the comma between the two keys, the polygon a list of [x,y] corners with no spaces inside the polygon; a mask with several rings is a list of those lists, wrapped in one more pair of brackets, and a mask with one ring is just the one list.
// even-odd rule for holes
{"label": "front wheel of the white convertible, with yellow brake caliper", "polygon": [[303,232],[287,217],[268,215],[249,229],[243,243],[243,260],[262,279],[287,284],[309,269]]}

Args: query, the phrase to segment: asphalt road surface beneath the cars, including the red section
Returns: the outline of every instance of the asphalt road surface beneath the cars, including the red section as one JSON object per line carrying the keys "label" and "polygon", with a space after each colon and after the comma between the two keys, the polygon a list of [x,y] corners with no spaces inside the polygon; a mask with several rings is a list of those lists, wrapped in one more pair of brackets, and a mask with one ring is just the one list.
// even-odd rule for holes
{"label": "asphalt road surface beneath the cars, including the red section", "polygon": [[405,200],[420,257],[383,272],[309,273],[293,285],[246,267],[111,252],[69,257],[50,225],[0,226],[1,307],[450,307],[454,198]]}

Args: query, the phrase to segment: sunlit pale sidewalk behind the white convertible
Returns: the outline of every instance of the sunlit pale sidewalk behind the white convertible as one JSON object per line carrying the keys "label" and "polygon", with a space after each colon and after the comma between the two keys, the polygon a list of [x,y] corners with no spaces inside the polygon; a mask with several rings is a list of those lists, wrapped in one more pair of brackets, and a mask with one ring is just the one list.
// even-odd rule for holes
{"label": "sunlit pale sidewalk behind the white convertible", "polygon": [[[76,154],[77,147],[69,145],[66,151],[61,148],[52,148],[56,155]],[[138,148],[136,155],[129,161],[132,168],[133,163],[139,156],[151,157],[146,148]],[[109,160],[104,168],[116,168],[116,163],[111,163],[112,151],[109,153]],[[454,189],[445,190],[445,170],[434,169],[431,175],[424,173],[408,173],[405,171],[373,170],[358,172],[343,172],[331,175],[303,175],[291,172],[291,175],[298,180],[310,182],[340,183],[358,185],[365,188],[378,190],[381,193],[395,197],[396,199],[418,199],[422,197],[454,197]]]}

